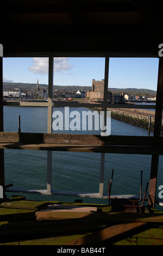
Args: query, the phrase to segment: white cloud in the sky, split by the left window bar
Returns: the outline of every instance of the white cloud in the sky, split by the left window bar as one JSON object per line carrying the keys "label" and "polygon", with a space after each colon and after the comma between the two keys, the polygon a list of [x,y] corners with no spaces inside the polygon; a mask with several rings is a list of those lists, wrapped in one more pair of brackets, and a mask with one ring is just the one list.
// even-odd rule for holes
{"label": "white cloud in the sky, split by the left window bar", "polygon": [[[72,68],[73,66],[70,63],[69,58],[54,58],[55,72],[71,70]],[[48,58],[33,58],[33,64],[28,70],[35,74],[48,74]]]}

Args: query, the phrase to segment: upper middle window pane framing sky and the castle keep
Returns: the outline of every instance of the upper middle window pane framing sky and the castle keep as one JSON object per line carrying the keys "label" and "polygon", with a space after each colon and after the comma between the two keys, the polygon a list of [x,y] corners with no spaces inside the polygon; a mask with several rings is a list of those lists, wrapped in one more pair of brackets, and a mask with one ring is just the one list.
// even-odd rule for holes
{"label": "upper middle window pane framing sky and the castle keep", "polygon": [[54,101],[101,102],[104,70],[105,58],[54,58]]}

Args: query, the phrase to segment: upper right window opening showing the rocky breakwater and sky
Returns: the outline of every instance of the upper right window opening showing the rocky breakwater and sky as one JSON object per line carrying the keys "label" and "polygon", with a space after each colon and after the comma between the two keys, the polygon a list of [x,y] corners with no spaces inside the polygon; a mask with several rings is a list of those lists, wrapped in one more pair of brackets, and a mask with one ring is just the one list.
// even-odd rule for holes
{"label": "upper right window opening showing the rocky breakwater and sky", "polygon": [[158,64],[158,58],[110,58],[108,108],[112,135],[148,136],[149,117],[153,131]]}

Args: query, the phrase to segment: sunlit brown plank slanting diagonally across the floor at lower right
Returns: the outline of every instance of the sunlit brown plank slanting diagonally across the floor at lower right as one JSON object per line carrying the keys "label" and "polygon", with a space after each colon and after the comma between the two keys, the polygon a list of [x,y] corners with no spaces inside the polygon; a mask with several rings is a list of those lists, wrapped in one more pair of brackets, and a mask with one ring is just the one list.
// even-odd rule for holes
{"label": "sunlit brown plank slanting diagonally across the floor at lower right", "polygon": [[117,238],[117,236],[119,237],[120,235],[124,236],[124,234],[130,234],[131,231],[135,231],[136,229],[139,230],[140,228],[145,227],[145,225],[147,225],[146,222],[116,224],[93,234],[80,237],[79,239],[68,242],[65,245],[99,245],[105,240],[107,240],[108,244],[111,239],[114,239],[115,237]]}

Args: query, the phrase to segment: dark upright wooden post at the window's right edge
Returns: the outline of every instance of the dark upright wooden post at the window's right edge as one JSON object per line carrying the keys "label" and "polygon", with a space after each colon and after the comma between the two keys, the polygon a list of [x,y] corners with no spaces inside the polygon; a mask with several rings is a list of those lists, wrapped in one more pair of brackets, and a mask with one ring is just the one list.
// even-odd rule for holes
{"label": "dark upright wooden post at the window's right edge", "polygon": [[[154,139],[160,139],[161,126],[162,126],[162,101],[163,101],[163,59],[159,59],[159,72],[158,72],[158,88],[156,94],[156,107],[155,107],[155,125],[154,125]],[[156,184],[158,177],[159,167],[159,154],[152,156],[151,162],[151,176],[149,182],[149,199],[148,205],[151,208],[155,207],[156,197]]]}

